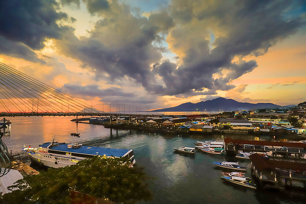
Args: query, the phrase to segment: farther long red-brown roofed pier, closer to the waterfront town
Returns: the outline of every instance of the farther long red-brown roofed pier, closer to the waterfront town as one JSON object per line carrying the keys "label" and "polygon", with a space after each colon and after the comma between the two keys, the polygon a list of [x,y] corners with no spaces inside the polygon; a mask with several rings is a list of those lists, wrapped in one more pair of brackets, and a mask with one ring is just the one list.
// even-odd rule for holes
{"label": "farther long red-brown roofed pier, closer to the waterfront town", "polygon": [[226,151],[230,153],[238,153],[238,150],[243,151],[257,151],[257,152],[272,152],[272,155],[281,154],[289,156],[295,154],[300,156],[306,154],[306,144],[299,142],[273,142],[273,141],[256,141],[231,139],[229,137],[224,139]]}

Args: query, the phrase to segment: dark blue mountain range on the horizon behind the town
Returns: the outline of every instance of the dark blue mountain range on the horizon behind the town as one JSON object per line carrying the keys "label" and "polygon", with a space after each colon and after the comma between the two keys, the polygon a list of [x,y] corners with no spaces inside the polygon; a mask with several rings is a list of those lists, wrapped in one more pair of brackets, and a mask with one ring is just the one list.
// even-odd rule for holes
{"label": "dark blue mountain range on the horizon behind the town", "polygon": [[[198,103],[183,103],[179,106],[159,109],[156,111],[235,111],[235,110],[251,110],[251,109],[274,109],[282,108],[283,106],[278,106],[273,103],[244,103],[238,102],[233,99],[226,98],[216,98],[208,101],[201,101]],[[155,111],[155,110],[154,110]]]}

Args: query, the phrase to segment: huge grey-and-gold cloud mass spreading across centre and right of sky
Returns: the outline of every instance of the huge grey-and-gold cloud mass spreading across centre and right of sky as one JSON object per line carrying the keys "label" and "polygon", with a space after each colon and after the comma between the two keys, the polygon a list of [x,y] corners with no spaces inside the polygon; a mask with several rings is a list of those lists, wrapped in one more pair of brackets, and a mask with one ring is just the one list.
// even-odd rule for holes
{"label": "huge grey-and-gold cloud mass spreading across centre and right of sky", "polygon": [[[305,24],[301,16],[286,17],[300,6],[291,1],[174,0],[170,13],[148,18],[133,16],[129,6],[117,1],[84,2],[103,19],[88,37],[71,33],[58,41],[61,52],[98,77],[112,81],[127,76],[158,95],[214,95],[233,89],[231,81],[258,66],[244,56],[266,53]],[[153,46],[162,33],[169,33],[167,43],[177,63],[162,59]]]}

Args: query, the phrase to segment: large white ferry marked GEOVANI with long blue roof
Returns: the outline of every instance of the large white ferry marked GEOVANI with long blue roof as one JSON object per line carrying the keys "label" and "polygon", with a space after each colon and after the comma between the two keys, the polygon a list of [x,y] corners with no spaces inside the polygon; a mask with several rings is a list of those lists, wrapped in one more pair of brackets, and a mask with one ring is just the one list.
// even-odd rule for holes
{"label": "large white ferry marked GEOVANI with long blue roof", "polygon": [[127,157],[132,165],[135,164],[133,150],[113,149],[105,147],[89,147],[82,144],[66,144],[59,142],[43,143],[38,148],[26,147],[23,150],[30,156],[32,162],[39,165],[59,168],[76,164],[78,161],[95,155],[104,157]]}

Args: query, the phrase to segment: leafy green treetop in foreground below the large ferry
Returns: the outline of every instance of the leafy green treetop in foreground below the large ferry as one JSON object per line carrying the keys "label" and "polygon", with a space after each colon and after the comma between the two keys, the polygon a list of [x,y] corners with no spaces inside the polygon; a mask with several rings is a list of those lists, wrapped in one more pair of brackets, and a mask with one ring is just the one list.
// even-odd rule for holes
{"label": "leafy green treetop in foreground below the large ferry", "polygon": [[129,168],[129,164],[127,158],[95,156],[75,165],[49,168],[18,180],[12,187],[19,190],[3,195],[0,203],[71,203],[70,189],[122,203],[151,199],[143,169]]}

